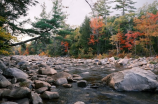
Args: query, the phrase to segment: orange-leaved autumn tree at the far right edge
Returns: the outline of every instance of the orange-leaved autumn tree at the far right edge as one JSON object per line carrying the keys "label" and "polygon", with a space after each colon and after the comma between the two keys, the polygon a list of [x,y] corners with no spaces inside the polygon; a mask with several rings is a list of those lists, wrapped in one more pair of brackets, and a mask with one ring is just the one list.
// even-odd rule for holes
{"label": "orange-leaved autumn tree at the far right edge", "polygon": [[[149,51],[151,56],[153,48],[153,38],[158,35],[158,12],[157,14],[147,13],[146,15],[141,16],[141,18],[135,18],[134,22],[136,24],[135,28],[143,34],[143,37],[140,38],[142,46],[146,51]],[[149,48],[148,48],[149,46]]]}

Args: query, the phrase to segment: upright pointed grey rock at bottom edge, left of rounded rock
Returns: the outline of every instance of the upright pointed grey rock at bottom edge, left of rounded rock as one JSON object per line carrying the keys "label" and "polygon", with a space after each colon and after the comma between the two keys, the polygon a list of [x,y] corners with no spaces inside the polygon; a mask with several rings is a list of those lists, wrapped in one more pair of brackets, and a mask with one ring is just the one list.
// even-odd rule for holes
{"label": "upright pointed grey rock at bottom edge, left of rounded rock", "polygon": [[31,92],[31,100],[32,100],[32,104],[43,104],[41,97],[37,93],[34,93],[33,91]]}

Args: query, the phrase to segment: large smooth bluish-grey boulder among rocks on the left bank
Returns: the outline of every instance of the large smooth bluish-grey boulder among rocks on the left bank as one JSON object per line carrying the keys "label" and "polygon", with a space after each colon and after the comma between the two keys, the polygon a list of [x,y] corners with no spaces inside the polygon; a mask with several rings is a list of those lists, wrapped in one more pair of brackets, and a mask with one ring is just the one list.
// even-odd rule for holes
{"label": "large smooth bluish-grey boulder among rocks on the left bank", "polygon": [[27,79],[28,75],[18,68],[8,68],[3,70],[3,75],[7,77]]}

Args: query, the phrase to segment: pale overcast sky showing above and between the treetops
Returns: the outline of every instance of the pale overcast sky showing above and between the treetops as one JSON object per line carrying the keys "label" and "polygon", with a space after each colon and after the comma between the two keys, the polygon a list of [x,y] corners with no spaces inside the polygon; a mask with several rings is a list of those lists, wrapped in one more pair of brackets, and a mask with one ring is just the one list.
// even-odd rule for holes
{"label": "pale overcast sky showing above and between the treetops", "polygon": [[[45,2],[47,11],[49,12],[52,8],[52,0],[38,0],[39,4],[37,4],[35,7],[30,7],[29,18],[31,20],[34,20],[34,17],[38,17],[41,13],[41,4]],[[95,3],[97,0],[88,0],[90,4]],[[155,0],[133,0],[134,2],[137,2],[134,6],[136,8],[142,7],[145,3],[152,3]],[[66,20],[66,23],[70,25],[81,25],[85,16],[88,15],[91,12],[91,9],[89,5],[85,2],[85,0],[63,0],[63,5],[67,6],[68,8],[65,9],[65,12],[69,14],[68,19]],[[119,11],[114,10],[114,13],[120,13]]]}

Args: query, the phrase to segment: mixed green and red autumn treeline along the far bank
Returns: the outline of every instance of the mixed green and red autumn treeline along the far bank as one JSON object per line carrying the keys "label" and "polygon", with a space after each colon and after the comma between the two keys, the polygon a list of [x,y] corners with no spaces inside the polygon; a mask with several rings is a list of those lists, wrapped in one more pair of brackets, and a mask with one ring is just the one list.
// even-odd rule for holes
{"label": "mixed green and red autumn treeline along the far bank", "polygon": [[[110,16],[110,1],[98,0],[91,6],[92,15],[73,28],[64,22],[62,4],[54,1],[50,13],[42,5],[41,17],[33,29],[40,30],[40,39],[13,48],[13,54],[71,56],[92,58],[96,55],[132,57],[158,54],[158,2],[145,4],[134,11],[132,0],[115,0],[114,9],[121,15]],[[39,31],[38,31],[39,32]]]}

